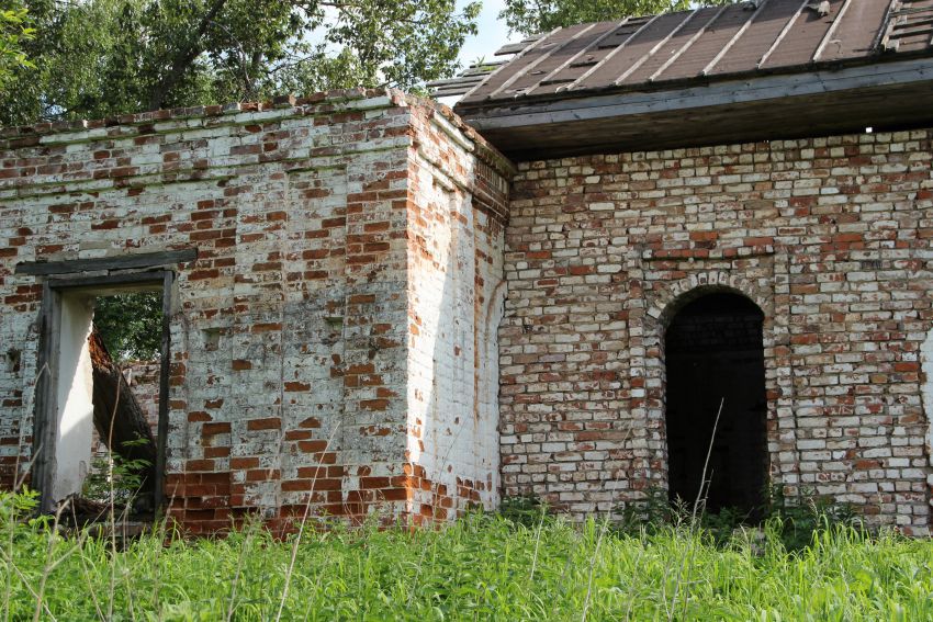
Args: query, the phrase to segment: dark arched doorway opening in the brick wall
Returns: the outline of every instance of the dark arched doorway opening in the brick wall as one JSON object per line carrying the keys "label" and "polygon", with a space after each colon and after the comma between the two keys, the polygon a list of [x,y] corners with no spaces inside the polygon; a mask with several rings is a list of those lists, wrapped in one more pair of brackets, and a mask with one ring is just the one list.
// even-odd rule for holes
{"label": "dark arched doorway opening in the brick wall", "polygon": [[[708,293],[677,312],[664,336],[668,490],[706,510],[760,518],[766,485],[764,314],[745,296]],[[722,411],[716,425],[720,404]],[[713,426],[716,434],[713,438]]]}

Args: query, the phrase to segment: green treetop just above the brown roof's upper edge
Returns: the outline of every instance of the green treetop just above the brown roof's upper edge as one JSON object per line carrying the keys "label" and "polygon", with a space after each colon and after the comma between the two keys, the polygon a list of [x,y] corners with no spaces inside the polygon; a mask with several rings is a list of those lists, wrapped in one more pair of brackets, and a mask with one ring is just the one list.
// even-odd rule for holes
{"label": "green treetop just above the brown roof's upper edge", "polygon": [[619,20],[683,11],[701,4],[731,4],[737,0],[506,0],[499,19],[524,35],[546,33],[558,26]]}

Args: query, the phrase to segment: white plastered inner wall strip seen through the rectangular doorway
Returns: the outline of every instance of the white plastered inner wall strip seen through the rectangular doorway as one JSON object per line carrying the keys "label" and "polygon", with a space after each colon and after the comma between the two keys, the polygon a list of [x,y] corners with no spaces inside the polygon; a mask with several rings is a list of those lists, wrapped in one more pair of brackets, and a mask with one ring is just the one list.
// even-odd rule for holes
{"label": "white plastered inner wall strip seen through the rectangular doorway", "polygon": [[55,462],[52,499],[60,501],[81,491],[91,468],[93,375],[88,337],[93,320],[92,301],[61,294],[59,303],[58,369],[56,370]]}

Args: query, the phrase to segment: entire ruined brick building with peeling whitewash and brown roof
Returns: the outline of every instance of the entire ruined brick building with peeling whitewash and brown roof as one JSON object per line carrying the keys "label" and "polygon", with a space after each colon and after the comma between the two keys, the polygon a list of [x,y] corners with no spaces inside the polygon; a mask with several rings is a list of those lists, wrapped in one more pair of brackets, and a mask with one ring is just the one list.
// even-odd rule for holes
{"label": "entire ruined brick building with peeling whitewash and brown roof", "polygon": [[4,131],[0,485],[80,490],[91,301],[150,290],[155,499],[193,531],[692,498],[712,437],[713,509],[772,484],[929,533],[933,0],[503,52],[437,84],[453,112],[346,91]]}

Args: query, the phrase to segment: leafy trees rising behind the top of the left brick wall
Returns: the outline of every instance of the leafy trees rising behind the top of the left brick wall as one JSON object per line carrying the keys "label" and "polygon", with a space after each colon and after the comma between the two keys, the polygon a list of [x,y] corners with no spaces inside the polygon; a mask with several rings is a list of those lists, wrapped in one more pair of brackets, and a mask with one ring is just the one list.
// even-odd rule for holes
{"label": "leafy trees rising behind the top of the left brick wall", "polygon": [[451,75],[479,2],[27,0],[35,64],[14,68],[0,123],[394,86]]}

